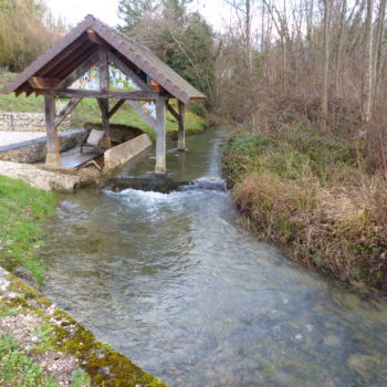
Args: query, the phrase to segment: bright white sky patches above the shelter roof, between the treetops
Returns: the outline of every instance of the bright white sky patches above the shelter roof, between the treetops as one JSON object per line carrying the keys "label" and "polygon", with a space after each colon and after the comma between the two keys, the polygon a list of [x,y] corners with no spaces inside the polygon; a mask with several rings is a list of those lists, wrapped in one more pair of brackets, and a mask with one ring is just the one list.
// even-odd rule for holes
{"label": "bright white sky patches above the shelter roof, between the treetops", "polygon": [[[121,21],[117,17],[118,0],[45,0],[45,3],[55,17],[61,15],[73,25],[88,13],[112,27]],[[200,11],[216,31],[221,28],[222,20],[229,18],[229,9],[222,0],[195,0],[194,8]]]}

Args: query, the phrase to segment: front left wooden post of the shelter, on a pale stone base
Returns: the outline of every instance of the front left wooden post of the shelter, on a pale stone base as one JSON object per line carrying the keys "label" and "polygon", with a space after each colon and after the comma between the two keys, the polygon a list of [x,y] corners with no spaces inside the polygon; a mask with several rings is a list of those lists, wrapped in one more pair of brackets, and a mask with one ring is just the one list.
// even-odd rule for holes
{"label": "front left wooden post of the shelter, on a pale stone base", "polygon": [[55,98],[51,95],[44,95],[44,112],[48,135],[45,166],[59,168],[62,164],[57,140],[57,127],[55,126]]}

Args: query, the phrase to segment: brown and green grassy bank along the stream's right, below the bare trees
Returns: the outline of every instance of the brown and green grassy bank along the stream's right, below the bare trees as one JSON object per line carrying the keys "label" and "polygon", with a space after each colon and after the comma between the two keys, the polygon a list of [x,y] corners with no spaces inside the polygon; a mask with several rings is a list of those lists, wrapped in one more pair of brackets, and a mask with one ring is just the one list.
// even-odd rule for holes
{"label": "brown and green grassy bank along the stream's right, below the bare trees", "polygon": [[222,158],[244,226],[307,266],[387,291],[385,178],[360,142],[280,115],[237,130]]}

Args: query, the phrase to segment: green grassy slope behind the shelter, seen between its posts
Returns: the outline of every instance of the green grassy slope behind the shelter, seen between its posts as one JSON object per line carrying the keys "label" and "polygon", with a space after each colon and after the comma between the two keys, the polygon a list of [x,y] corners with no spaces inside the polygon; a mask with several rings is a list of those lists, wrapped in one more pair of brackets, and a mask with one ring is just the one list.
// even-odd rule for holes
{"label": "green grassy slope behind the shelter, seen between its posts", "polygon": [[[0,72],[0,88],[10,81],[14,74],[8,72]],[[113,102],[112,102],[113,104]],[[30,112],[43,113],[44,100],[43,96],[27,97],[25,94],[15,97],[14,94],[0,94],[0,111],[1,112]],[[71,115],[71,123],[73,127],[84,127],[86,124],[101,124],[101,111],[95,98],[84,98],[77,105]],[[150,127],[132,109],[129,105],[124,105],[111,119],[112,124],[130,125],[142,128],[151,137],[155,136]],[[201,133],[206,128],[206,121],[202,117],[187,111],[186,114],[186,130],[187,133]],[[167,113],[167,132],[174,134],[178,130],[178,124],[175,117]]]}

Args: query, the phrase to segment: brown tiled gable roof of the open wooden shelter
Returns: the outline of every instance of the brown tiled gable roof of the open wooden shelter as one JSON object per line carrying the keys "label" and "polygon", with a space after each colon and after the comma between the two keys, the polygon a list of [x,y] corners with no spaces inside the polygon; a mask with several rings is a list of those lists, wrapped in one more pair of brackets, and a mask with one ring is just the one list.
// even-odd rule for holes
{"label": "brown tiled gable roof of the open wooden shelter", "polygon": [[186,104],[191,100],[206,98],[202,93],[159,60],[149,49],[121,34],[91,14],[15,76],[0,93],[25,92],[27,95],[31,94],[34,92],[28,83],[31,76],[59,77],[61,80],[66,77],[74,70],[74,65],[77,66],[80,61],[85,60],[97,50],[97,44],[87,39],[87,29],[93,29],[106,42],[108,50],[118,53],[128,65],[135,65],[144,71],[174,97]]}

